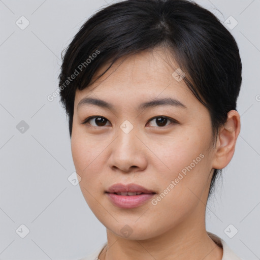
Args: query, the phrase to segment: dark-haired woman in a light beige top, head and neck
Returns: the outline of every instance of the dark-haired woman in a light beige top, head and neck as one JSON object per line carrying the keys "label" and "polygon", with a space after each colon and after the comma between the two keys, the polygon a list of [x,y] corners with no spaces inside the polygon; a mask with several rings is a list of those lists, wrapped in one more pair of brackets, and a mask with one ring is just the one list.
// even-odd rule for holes
{"label": "dark-haired woman in a light beige top, head and neck", "polygon": [[62,59],[76,172],[107,228],[84,259],[240,259],[205,228],[240,132],[228,29],[193,2],[129,0],[90,17]]}

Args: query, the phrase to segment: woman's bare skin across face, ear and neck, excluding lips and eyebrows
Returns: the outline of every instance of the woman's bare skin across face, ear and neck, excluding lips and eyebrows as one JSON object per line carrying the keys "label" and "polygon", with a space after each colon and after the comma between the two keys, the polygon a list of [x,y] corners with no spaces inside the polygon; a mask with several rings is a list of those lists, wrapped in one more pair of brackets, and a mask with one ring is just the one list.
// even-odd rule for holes
{"label": "woman's bare skin across face, ear and neck, excluding lips and eyebrows", "polygon": [[[235,110],[229,112],[212,146],[209,111],[184,80],[172,76],[178,64],[169,57],[167,50],[156,48],[121,58],[101,79],[76,91],[72,156],[83,196],[107,228],[108,247],[101,260],[222,258],[222,248],[205,229],[205,210],[213,169],[224,168],[233,157],[240,117]],[[86,97],[105,100],[115,108],[89,104],[77,108]],[[165,97],[179,100],[187,109],[164,105],[136,110],[144,101]],[[89,116],[106,120],[82,124]],[[155,116],[178,123],[156,123],[156,118],[150,120]],[[120,128],[125,120],[134,127],[128,134]],[[105,194],[120,182],[137,183],[158,196],[201,153],[204,158],[157,205],[149,200],[137,208],[119,208]],[[120,232],[126,224],[133,231],[128,237]]]}

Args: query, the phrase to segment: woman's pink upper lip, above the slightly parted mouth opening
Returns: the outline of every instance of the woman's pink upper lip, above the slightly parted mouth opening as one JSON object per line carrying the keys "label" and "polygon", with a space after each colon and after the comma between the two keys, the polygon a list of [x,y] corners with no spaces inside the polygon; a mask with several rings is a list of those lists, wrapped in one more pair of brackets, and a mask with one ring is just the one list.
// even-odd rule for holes
{"label": "woman's pink upper lip, above the slightly parted mouth opening", "polygon": [[135,183],[129,183],[129,184],[122,184],[122,183],[116,183],[110,186],[106,191],[106,193],[116,193],[118,195],[122,196],[134,196],[141,193],[156,193],[153,190],[147,189],[143,186],[140,186]]}

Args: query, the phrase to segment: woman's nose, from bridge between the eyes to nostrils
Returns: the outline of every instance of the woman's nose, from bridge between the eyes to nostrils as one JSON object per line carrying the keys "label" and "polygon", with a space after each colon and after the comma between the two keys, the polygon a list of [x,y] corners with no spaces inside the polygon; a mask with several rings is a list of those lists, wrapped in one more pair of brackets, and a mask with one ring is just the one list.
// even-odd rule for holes
{"label": "woman's nose, from bridge between the eyes to nostrils", "polygon": [[112,170],[129,173],[142,171],[147,167],[147,148],[134,129],[126,134],[119,128],[110,149],[108,166]]}

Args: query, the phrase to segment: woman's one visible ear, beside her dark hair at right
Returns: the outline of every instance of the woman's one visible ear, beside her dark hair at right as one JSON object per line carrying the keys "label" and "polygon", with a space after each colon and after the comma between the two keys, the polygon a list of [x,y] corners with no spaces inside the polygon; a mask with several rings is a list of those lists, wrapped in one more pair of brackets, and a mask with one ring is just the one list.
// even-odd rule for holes
{"label": "woman's one visible ear, beside her dark hair at right", "polygon": [[240,133],[240,116],[236,110],[228,113],[224,126],[220,127],[212,168],[223,169],[226,167],[235,152],[236,141]]}

